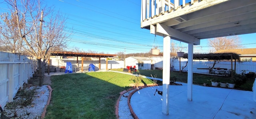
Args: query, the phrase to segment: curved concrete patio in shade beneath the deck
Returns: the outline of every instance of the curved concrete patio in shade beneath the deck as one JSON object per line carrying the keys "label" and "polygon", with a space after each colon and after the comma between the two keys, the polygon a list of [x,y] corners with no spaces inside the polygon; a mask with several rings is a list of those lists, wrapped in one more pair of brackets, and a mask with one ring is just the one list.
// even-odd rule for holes
{"label": "curved concrete patio in shade beneath the deck", "polygon": [[[180,83],[180,82],[177,82]],[[253,92],[193,85],[193,101],[187,100],[187,84],[170,85],[169,115],[162,114],[162,86],[135,92],[130,104],[139,119],[256,119]]]}

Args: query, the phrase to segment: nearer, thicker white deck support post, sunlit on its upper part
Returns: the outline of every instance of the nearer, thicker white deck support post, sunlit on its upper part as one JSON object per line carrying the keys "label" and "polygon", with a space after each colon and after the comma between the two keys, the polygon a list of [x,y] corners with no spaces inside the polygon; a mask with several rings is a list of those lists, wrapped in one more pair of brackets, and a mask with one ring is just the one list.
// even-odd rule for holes
{"label": "nearer, thicker white deck support post, sunlit on its upper part", "polygon": [[169,86],[170,86],[170,36],[164,35],[164,54],[163,54],[163,101],[162,113],[169,114]]}

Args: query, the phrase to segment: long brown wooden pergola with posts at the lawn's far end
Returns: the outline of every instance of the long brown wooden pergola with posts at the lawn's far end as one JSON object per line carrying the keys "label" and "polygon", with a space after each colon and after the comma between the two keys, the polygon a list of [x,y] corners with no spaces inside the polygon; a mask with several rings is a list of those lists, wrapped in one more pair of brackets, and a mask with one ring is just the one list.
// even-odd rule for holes
{"label": "long brown wooden pergola with posts at the lawn's far end", "polygon": [[[51,56],[70,56],[70,57],[76,57],[76,63],[78,64],[78,57],[82,57],[82,66],[84,65],[84,57],[98,57],[99,58],[99,70],[100,67],[100,58],[104,57],[106,59],[106,70],[108,70],[108,57],[114,57],[116,55],[114,54],[96,54],[96,53],[76,53],[76,52],[52,52]],[[48,60],[50,62],[50,59]],[[49,66],[48,66],[49,67]],[[83,71],[83,68],[82,68]]]}

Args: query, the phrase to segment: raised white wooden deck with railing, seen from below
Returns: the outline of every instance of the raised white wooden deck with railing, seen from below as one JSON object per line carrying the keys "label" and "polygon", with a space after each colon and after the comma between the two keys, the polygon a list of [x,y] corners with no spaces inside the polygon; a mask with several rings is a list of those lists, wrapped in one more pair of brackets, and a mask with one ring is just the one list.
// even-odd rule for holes
{"label": "raised white wooden deck with railing, seen from below", "polygon": [[256,0],[142,0],[141,28],[200,45],[200,39],[256,33]]}

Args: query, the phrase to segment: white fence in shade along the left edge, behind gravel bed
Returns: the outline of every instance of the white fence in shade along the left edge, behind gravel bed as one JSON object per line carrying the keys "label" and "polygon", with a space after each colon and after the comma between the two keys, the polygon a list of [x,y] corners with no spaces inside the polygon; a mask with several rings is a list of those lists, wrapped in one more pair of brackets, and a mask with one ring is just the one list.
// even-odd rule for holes
{"label": "white fence in shade along the left edge, behind gravel bed", "polygon": [[36,61],[26,56],[0,51],[0,105],[13,101],[19,88],[28,83],[36,70]]}

